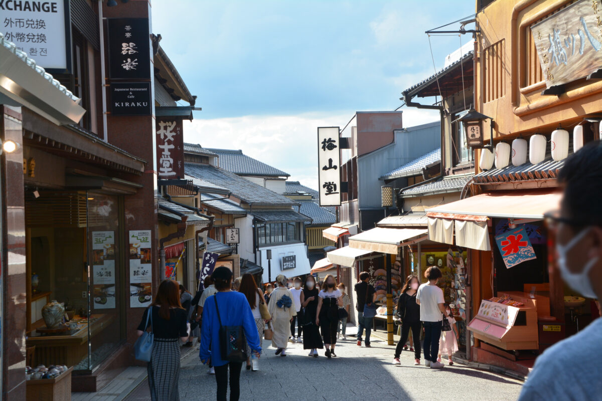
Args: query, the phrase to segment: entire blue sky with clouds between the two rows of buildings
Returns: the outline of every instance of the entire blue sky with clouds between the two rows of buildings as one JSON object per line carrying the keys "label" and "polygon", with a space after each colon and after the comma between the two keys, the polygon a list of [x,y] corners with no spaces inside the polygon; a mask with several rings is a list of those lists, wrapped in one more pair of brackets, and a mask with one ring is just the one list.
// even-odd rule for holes
{"label": "entire blue sky with clouds between the two rows of buildings", "polygon": [[[240,148],[316,187],[316,127],[400,106],[401,91],[434,72],[424,31],[469,16],[474,4],[154,0],[152,25],[203,108],[186,141]],[[437,69],[461,40],[470,36],[431,37]],[[405,126],[438,118],[403,110]]]}

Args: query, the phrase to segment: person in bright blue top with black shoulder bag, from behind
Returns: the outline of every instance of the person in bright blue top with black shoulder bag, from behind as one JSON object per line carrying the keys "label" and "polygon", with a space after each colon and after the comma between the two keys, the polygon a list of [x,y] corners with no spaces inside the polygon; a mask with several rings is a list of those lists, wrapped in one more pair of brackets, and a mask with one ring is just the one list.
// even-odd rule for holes
{"label": "person in bright blue top with black shoulder bag, from behind", "polygon": [[246,343],[253,355],[259,358],[259,335],[246,297],[232,291],[232,271],[220,266],[211,277],[217,293],[207,298],[203,307],[199,357],[204,364],[211,360],[216,370],[217,401],[226,401],[228,370],[230,401],[237,401],[240,397],[240,371],[247,358]]}

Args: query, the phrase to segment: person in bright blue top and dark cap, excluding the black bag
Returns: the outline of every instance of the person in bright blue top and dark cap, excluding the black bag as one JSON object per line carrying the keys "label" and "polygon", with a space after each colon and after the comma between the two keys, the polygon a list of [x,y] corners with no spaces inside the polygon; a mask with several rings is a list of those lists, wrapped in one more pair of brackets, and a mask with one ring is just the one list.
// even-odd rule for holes
{"label": "person in bright blue top and dark cap, excluding the black bag", "polygon": [[220,353],[220,322],[217,318],[216,301],[224,326],[243,326],[244,335],[253,354],[259,358],[261,344],[253,319],[249,301],[240,292],[232,291],[232,271],[220,266],[211,275],[217,293],[209,296],[203,308],[203,326],[200,338],[199,357],[202,363],[211,364],[216,370],[217,401],[226,401],[228,391],[228,369],[230,370],[230,401],[240,396],[240,371],[242,362],[222,360]]}

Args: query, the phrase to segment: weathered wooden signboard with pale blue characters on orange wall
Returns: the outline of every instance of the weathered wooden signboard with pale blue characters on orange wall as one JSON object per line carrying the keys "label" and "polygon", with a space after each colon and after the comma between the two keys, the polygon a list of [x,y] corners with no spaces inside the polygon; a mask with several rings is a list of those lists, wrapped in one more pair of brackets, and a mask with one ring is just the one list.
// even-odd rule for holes
{"label": "weathered wooden signboard with pale blue characters on orange wall", "polygon": [[602,66],[602,3],[581,0],[531,26],[548,88],[583,78]]}

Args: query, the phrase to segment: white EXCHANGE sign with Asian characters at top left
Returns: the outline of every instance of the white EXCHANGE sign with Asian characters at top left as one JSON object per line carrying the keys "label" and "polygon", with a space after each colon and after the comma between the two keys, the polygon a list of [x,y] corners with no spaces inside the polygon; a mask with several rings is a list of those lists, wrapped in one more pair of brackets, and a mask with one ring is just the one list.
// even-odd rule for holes
{"label": "white EXCHANGE sign with Asian characters at top left", "polygon": [[0,1],[0,32],[45,69],[71,69],[69,1]]}

